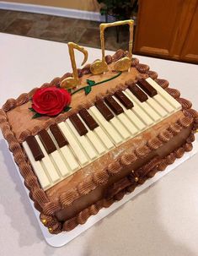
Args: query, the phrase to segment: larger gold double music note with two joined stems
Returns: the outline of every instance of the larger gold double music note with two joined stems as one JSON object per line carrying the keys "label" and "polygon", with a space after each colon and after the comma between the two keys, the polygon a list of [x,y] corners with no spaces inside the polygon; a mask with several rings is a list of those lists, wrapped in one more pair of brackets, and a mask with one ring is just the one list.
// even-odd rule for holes
{"label": "larger gold double music note with two joined stems", "polygon": [[132,61],[132,41],[133,41],[133,20],[123,20],[123,21],[115,21],[113,23],[103,23],[99,25],[100,30],[100,41],[101,41],[101,49],[102,49],[102,60],[96,61],[91,64],[90,71],[92,74],[102,74],[108,71],[107,63],[105,62],[105,46],[104,46],[104,30],[108,27],[114,27],[118,25],[129,25],[129,54],[128,57],[123,57],[115,63],[114,69],[115,71],[126,71],[131,67]]}

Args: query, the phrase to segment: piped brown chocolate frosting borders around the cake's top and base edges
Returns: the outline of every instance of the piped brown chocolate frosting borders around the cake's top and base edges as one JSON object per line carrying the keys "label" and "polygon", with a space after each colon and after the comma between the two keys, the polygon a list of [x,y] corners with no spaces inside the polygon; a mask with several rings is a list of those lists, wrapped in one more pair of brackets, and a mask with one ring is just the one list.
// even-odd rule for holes
{"label": "piped brown chocolate frosting borders around the cake's top and base edges", "polygon": [[[123,50],[118,50],[111,58],[109,57],[109,63],[117,58],[121,58],[126,55],[127,52],[124,52]],[[130,165],[133,161],[136,161],[138,157],[142,158],[146,156],[151,150],[158,149],[158,147],[160,147],[163,143],[169,141],[169,139],[173,138],[176,134],[178,134],[182,128],[187,128],[191,124],[193,124],[193,128],[189,138],[186,139],[186,143],[178,150],[174,150],[174,152],[166,156],[157,167],[153,168],[152,171],[148,172],[146,179],[148,177],[153,177],[156,172],[164,170],[166,166],[173,163],[176,158],[182,157],[185,151],[192,150],[191,142],[193,141],[193,139],[195,139],[195,129],[198,128],[198,113],[195,110],[191,109],[191,102],[183,98],[179,98],[179,90],[168,88],[169,82],[167,80],[158,79],[158,74],[154,71],[149,70],[149,67],[147,65],[139,63],[138,59],[133,59],[132,66],[140,72],[140,74],[136,76],[136,79],[146,79],[150,76],[152,79],[155,79],[156,82],[163,87],[163,89],[167,90],[170,95],[172,95],[177,101],[179,101],[179,103],[182,105],[182,111],[185,114],[185,117],[179,119],[177,123],[170,125],[169,128],[164,129],[164,131],[159,133],[158,137],[156,137],[155,139],[151,139],[147,141],[147,144],[145,144],[144,146],[137,148],[133,154],[121,155],[118,159],[116,159],[114,163],[111,163],[109,166],[107,166],[107,168],[101,170],[101,172],[97,174],[93,174],[85,181],[79,183],[77,188],[73,189],[72,191],[68,191],[67,193],[62,193],[59,200],[55,202],[50,201],[47,198],[44,190],[40,188],[40,183],[38,182],[37,177],[35,176],[35,173],[32,170],[32,167],[30,166],[30,163],[27,159],[27,156],[25,155],[24,150],[20,145],[20,142],[22,142],[26,138],[26,136],[30,134],[30,131],[24,131],[24,133],[22,133],[20,136],[20,141],[18,141],[13,134],[10,124],[8,123],[6,114],[6,112],[13,109],[14,107],[23,105],[25,102],[29,101],[29,98],[31,97],[31,95],[33,95],[37,88],[29,91],[28,94],[24,93],[22,95],[19,95],[16,100],[9,99],[3,105],[3,109],[0,109],[0,127],[2,128],[3,137],[8,141],[9,150],[13,153],[14,161],[19,166],[19,171],[22,177],[24,177],[24,185],[29,189],[29,198],[35,202],[35,208],[40,211],[40,221],[42,221],[43,224],[47,226],[49,231],[53,234],[57,234],[61,231],[72,230],[75,226],[78,226],[78,224],[85,223],[90,215],[97,214],[98,211],[103,207],[109,207],[116,200],[122,199],[126,193],[133,191],[138,183],[131,182],[131,185],[126,186],[125,188],[120,190],[118,193],[115,194],[112,199],[101,199],[95,204],[89,206],[87,209],[81,211],[72,219],[65,221],[64,223],[56,219],[56,211],[61,210],[69,204],[72,204],[74,200],[78,199],[83,194],[90,193],[92,190],[94,190],[94,188],[98,187],[99,185],[108,182],[110,176],[120,172],[123,167]],[[88,74],[88,69],[89,67],[87,65],[87,67],[83,69],[78,69],[78,73],[80,75]],[[62,78],[53,79],[51,83],[45,83],[41,87],[58,84],[62,79],[65,79],[66,77],[71,75],[72,74],[67,73],[63,75]],[[127,81],[126,84],[128,83],[129,81]],[[122,88],[124,89],[126,87],[126,84],[118,84],[115,90]],[[113,92],[114,90],[107,91],[107,94],[112,94]],[[99,95],[99,97],[103,96],[104,95]],[[88,106],[86,107],[92,105],[93,102],[88,103]],[[79,108],[80,107],[82,106],[79,106]],[[62,122],[66,118],[67,117],[64,116],[64,114],[61,114],[56,117],[56,120],[50,119],[49,121],[47,121],[45,127],[35,127],[32,133],[35,135],[39,132],[40,128],[47,128],[51,125],[51,123]]]}

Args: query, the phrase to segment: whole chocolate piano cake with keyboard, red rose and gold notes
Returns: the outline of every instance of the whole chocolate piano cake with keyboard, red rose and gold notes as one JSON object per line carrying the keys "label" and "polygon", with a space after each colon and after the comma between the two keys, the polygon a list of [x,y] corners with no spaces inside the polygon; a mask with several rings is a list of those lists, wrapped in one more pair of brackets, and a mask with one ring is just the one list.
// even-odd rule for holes
{"label": "whole chocolate piano cake with keyboard, red rose and gold notes", "polygon": [[[129,51],[104,55],[104,29],[128,24]],[[102,60],[5,102],[0,126],[52,234],[83,225],[192,150],[198,113],[132,57],[132,21],[100,25]]]}

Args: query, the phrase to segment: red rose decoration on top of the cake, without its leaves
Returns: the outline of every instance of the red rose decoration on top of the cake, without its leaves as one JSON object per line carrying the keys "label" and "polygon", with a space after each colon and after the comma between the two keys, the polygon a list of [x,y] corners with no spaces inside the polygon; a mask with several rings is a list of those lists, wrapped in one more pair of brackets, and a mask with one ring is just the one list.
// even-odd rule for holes
{"label": "red rose decoration on top of the cake, without its leaves", "polygon": [[50,117],[61,113],[71,102],[71,95],[65,89],[55,86],[40,88],[32,98],[32,108],[35,112]]}

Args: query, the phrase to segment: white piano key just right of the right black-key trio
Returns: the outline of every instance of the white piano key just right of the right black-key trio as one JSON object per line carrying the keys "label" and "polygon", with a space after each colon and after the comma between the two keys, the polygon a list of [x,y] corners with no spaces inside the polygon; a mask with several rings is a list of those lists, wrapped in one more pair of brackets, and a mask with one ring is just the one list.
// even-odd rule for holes
{"label": "white piano key just right of the right black-key trio", "polygon": [[129,89],[126,89],[125,91],[123,91],[123,93],[124,93],[127,97],[129,97],[129,99],[133,102],[133,105],[134,105],[134,106],[133,106],[133,108],[132,108],[132,111],[135,112],[136,115],[137,115],[139,118],[141,118],[144,123],[147,124],[147,126],[151,126],[151,125],[153,124],[153,120],[151,119],[151,117],[149,117],[149,116],[147,115],[146,112],[144,112],[144,111],[142,110],[142,108],[141,108],[140,106],[138,106],[138,105],[136,104],[136,101],[133,101],[133,95],[131,95],[131,91],[130,91]]}

